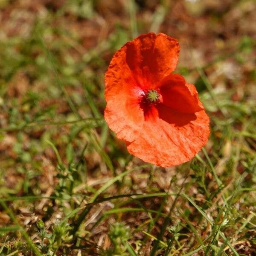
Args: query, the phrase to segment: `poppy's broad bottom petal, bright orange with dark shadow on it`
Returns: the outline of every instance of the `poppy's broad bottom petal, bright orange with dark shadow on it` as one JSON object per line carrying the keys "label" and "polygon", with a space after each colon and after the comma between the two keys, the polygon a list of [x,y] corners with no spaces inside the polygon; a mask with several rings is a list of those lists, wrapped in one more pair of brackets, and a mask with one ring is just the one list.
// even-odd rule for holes
{"label": "poppy's broad bottom petal, bright orange with dark shadow on it", "polygon": [[175,166],[189,161],[207,143],[209,117],[204,110],[177,113],[159,105],[143,123],[140,136],[127,143],[134,156],[157,166]]}

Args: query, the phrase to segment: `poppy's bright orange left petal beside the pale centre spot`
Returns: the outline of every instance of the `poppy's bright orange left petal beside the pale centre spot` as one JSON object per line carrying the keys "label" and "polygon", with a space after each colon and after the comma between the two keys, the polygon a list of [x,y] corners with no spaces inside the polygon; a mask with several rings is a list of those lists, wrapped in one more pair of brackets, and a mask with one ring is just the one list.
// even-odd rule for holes
{"label": "poppy's bright orange left petal beside the pale centre spot", "polygon": [[133,141],[144,122],[143,110],[139,105],[143,91],[134,80],[125,55],[124,48],[117,51],[105,73],[107,106],[104,117],[120,140]]}

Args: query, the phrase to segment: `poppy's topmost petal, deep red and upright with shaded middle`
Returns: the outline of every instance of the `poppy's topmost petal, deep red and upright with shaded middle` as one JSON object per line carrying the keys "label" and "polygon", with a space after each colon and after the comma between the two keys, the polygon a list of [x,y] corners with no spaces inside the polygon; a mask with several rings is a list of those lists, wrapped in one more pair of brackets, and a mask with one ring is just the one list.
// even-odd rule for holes
{"label": "poppy's topmost petal, deep red and upright with shaded middle", "polygon": [[165,34],[140,35],[124,46],[126,63],[140,86],[155,87],[177,65],[180,47]]}

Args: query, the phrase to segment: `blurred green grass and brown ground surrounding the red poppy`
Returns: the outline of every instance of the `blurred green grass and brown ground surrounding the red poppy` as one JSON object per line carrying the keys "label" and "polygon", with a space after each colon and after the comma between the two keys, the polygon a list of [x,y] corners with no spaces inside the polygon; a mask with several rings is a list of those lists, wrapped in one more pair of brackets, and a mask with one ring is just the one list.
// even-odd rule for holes
{"label": "blurred green grass and brown ground surrounding the red poppy", "polygon": [[[0,0],[0,255],[255,255],[255,24],[255,0]],[[147,32],[211,118],[178,167],[103,119],[113,53]]]}

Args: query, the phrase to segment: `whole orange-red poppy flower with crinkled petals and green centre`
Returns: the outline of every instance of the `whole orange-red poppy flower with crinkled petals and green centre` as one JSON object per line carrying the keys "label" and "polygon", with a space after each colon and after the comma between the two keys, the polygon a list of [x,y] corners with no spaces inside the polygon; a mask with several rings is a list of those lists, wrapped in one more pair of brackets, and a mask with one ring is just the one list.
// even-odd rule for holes
{"label": "whole orange-red poppy flower with crinkled petals and green centre", "polygon": [[207,143],[209,117],[175,70],[179,44],[148,33],[126,43],[105,73],[105,120],[128,151],[157,166],[190,160]]}

